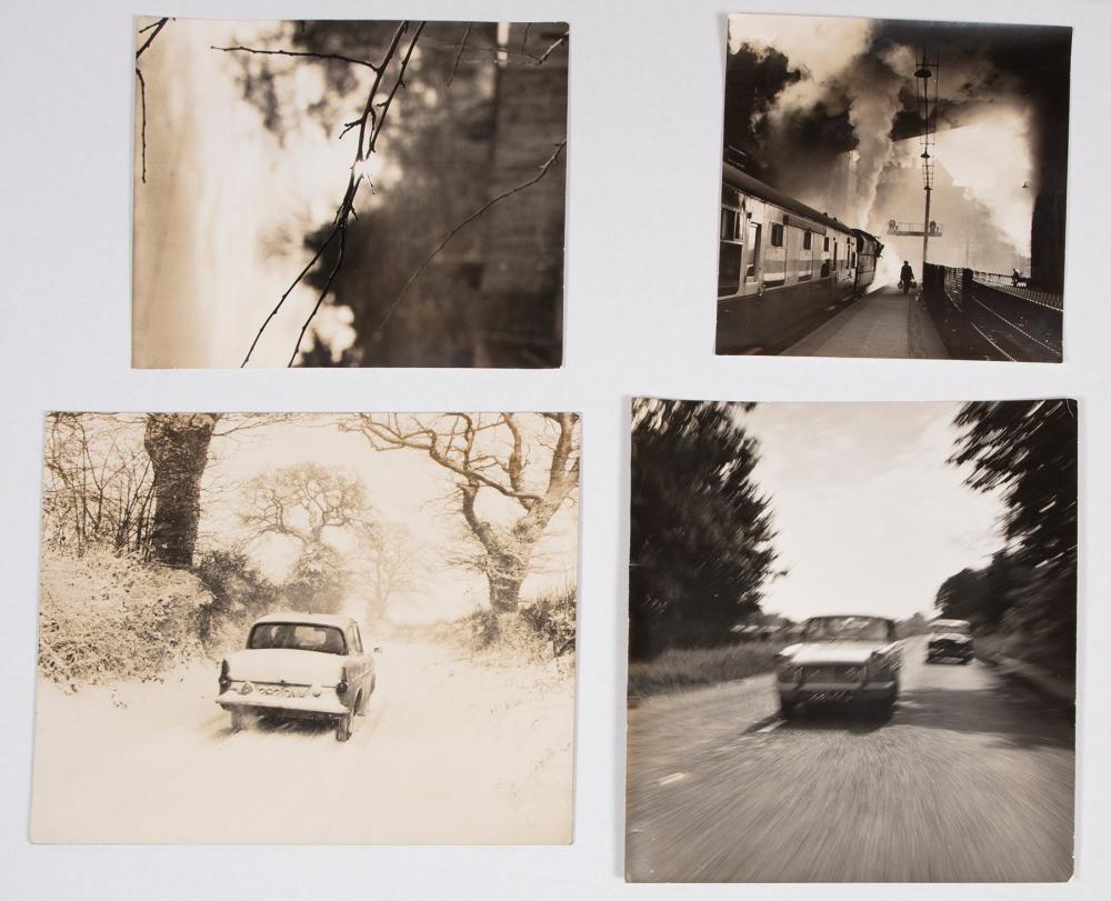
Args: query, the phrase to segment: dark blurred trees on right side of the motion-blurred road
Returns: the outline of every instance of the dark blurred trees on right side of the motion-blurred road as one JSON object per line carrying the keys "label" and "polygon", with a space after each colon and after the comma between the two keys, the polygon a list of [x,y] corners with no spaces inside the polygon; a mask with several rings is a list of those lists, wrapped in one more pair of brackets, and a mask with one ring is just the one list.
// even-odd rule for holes
{"label": "dark blurred trees on right side of the motion-blurred road", "polygon": [[1018,655],[1074,673],[1077,662],[1077,404],[1071,400],[965,404],[950,462],[967,482],[1000,491],[1005,544],[980,569],[938,590],[941,615],[1009,637]]}

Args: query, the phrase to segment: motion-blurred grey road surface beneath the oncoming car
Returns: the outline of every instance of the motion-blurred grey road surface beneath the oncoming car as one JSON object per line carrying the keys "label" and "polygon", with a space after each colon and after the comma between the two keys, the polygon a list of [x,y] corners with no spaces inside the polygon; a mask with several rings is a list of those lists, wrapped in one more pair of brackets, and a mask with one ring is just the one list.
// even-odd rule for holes
{"label": "motion-blurred grey road surface beneath the oncoming car", "polygon": [[625,868],[650,882],[1052,882],[1073,870],[1073,725],[905,642],[889,722],[777,714],[773,677],[629,711]]}

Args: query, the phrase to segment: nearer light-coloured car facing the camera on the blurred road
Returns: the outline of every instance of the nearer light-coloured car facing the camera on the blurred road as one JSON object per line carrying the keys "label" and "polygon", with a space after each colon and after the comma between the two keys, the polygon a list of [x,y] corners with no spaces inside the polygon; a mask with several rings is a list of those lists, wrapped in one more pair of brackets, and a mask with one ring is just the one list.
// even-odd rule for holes
{"label": "nearer light-coloured car facing the camera on the blurred road", "polygon": [[799,704],[864,702],[891,715],[899,700],[902,644],[882,617],[812,617],[799,642],[779,652],[775,685],[783,718]]}

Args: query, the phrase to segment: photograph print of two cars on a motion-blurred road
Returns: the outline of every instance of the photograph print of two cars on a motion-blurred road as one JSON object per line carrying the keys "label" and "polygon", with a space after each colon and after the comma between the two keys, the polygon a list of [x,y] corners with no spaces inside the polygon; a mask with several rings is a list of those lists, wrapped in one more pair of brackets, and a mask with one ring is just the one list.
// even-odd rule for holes
{"label": "photograph print of two cars on a motion-blurred road", "polygon": [[632,407],[625,874],[1073,872],[1077,403]]}

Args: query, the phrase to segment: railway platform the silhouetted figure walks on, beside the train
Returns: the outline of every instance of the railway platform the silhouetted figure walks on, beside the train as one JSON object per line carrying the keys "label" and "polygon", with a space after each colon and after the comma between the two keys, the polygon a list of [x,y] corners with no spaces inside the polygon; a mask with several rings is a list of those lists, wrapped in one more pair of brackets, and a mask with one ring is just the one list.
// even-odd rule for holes
{"label": "railway platform the silhouetted figure walks on, beside the train", "polygon": [[854,301],[805,338],[785,357],[949,358],[925,304],[915,293],[881,288]]}

